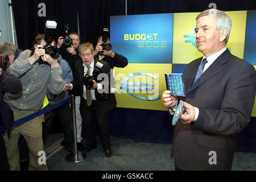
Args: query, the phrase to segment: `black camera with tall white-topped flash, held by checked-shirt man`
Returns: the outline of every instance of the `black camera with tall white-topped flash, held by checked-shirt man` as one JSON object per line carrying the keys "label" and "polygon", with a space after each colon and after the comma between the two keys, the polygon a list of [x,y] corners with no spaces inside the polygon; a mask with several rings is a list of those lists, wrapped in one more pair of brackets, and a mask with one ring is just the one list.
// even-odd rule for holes
{"label": "black camera with tall white-topped flash, held by checked-shirt man", "polygon": [[[51,43],[54,40],[54,33],[57,23],[55,21],[46,21],[46,28],[44,29],[44,40],[46,41],[46,46],[43,48],[46,50],[46,53],[51,56],[53,59],[57,59],[60,56],[60,51],[56,47],[52,46]],[[40,57],[39,62],[43,63],[44,61]]]}

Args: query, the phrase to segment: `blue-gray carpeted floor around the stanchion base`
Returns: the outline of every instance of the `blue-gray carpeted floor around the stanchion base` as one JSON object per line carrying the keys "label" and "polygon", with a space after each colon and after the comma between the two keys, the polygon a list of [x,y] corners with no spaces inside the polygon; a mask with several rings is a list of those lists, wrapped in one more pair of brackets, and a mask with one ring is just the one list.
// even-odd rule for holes
{"label": "blue-gray carpeted floor around the stanchion base", "polygon": [[[46,144],[49,171],[173,171],[174,160],[170,158],[171,144],[134,142],[111,136],[113,156],[106,158],[97,136],[97,148],[88,152],[79,163],[65,160],[68,150],[60,146],[63,133],[49,135]],[[84,142],[84,141],[83,141]],[[85,143],[83,143],[85,146]],[[232,171],[256,170],[256,153],[234,154]]]}

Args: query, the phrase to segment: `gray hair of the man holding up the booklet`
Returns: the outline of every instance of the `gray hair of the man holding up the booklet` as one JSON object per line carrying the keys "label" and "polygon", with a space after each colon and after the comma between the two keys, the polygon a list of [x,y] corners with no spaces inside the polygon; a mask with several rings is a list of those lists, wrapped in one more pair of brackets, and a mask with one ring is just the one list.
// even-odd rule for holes
{"label": "gray hair of the man holding up the booklet", "polygon": [[226,36],[225,43],[228,42],[229,40],[229,35],[232,27],[232,21],[229,18],[228,15],[224,13],[224,11],[216,10],[216,9],[209,9],[209,10],[204,10],[202,13],[200,13],[196,17],[196,21],[201,17],[201,16],[208,16],[208,15],[213,15],[216,16],[216,27],[217,30],[221,31],[224,28],[228,30],[228,35]]}

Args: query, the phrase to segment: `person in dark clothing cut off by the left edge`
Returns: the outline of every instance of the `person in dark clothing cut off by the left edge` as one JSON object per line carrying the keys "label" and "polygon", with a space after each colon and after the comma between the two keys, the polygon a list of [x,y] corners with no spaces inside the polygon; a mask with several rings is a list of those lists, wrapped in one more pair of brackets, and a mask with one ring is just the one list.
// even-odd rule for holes
{"label": "person in dark clothing cut off by the left edge", "polygon": [[[7,134],[10,134],[11,125],[13,125],[14,117],[13,111],[10,106],[2,99],[2,94],[5,92],[18,93],[22,91],[22,84],[18,77],[9,75],[0,68],[0,126],[4,126],[7,130]],[[2,134],[0,134],[0,171],[9,171],[9,163],[6,154],[5,141]]]}

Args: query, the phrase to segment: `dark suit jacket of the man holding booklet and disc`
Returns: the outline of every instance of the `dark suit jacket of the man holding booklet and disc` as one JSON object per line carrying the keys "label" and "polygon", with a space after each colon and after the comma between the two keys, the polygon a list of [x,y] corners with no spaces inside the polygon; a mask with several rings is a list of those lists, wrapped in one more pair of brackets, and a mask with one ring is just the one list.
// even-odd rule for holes
{"label": "dark suit jacket of the man holding booklet and disc", "polygon": [[[197,121],[177,122],[171,157],[185,170],[228,170],[236,134],[250,121],[255,98],[255,68],[228,50],[192,84],[202,57],[184,70],[185,102],[199,108]],[[217,164],[209,164],[216,152]],[[210,159],[212,160],[212,159]]]}

